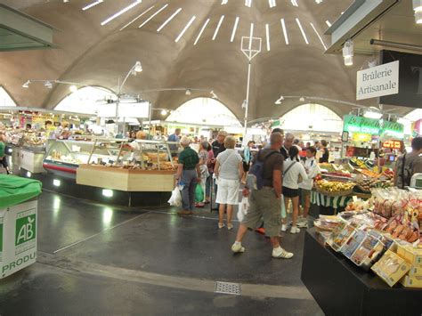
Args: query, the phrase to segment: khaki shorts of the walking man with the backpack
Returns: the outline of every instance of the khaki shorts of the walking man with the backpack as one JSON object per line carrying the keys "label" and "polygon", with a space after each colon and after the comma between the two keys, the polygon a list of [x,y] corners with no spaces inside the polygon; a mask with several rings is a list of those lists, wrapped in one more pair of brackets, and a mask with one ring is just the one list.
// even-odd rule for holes
{"label": "khaki shorts of the walking man with the backpack", "polygon": [[265,235],[269,237],[279,236],[281,229],[281,199],[275,197],[274,190],[252,190],[249,196],[248,213],[242,224],[255,230],[261,219],[264,218]]}

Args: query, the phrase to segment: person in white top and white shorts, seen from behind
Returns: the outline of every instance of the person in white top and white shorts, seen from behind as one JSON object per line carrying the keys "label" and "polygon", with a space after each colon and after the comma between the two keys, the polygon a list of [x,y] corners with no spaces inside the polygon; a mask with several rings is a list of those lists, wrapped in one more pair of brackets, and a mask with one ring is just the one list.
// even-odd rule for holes
{"label": "person in white top and white shorts, seen from behind", "polygon": [[224,139],[224,150],[215,162],[215,180],[218,184],[215,203],[219,204],[218,228],[223,228],[223,217],[227,206],[227,229],[231,230],[231,216],[233,206],[239,204],[239,182],[243,176],[243,163],[241,156],[234,150],[236,139],[227,136]]}

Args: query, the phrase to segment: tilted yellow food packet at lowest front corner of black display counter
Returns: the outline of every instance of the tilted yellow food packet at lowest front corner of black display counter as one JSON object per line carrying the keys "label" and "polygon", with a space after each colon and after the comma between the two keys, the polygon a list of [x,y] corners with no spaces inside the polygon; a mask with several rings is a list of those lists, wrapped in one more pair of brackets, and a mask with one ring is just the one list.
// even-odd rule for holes
{"label": "tilted yellow food packet at lowest front corner of black display counter", "polygon": [[411,265],[393,251],[387,250],[375,263],[371,270],[374,271],[390,287],[394,287],[402,277],[410,271]]}

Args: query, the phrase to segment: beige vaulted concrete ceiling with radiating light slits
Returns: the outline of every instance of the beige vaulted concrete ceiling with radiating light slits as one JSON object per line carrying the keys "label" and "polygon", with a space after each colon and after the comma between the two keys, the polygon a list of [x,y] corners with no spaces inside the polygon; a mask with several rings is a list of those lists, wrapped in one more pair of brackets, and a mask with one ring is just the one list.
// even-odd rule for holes
{"label": "beige vaulted concrete ceiling with radiating light slits", "polygon": [[[51,109],[69,93],[66,85],[54,85],[50,90],[34,83],[28,89],[22,88],[22,83],[30,78],[101,85],[116,91],[118,77],[125,76],[135,61],[142,61],[143,72],[128,78],[124,93],[163,87],[210,88],[241,119],[248,61],[240,51],[240,41],[241,36],[249,35],[251,23],[254,23],[254,36],[263,38],[263,50],[252,61],[249,119],[278,117],[309,102],[297,98],[274,105],[280,95],[355,102],[356,71],[367,58],[356,57],[354,66],[346,68],[341,56],[325,55],[321,43],[329,43],[323,36],[328,28],[326,20],[336,20],[351,0],[324,0],[321,4],[314,0],[296,0],[298,6],[293,5],[295,1],[275,0],[277,5],[272,8],[268,0],[252,0],[251,7],[246,6],[244,0],[228,0],[227,4],[222,4],[222,0],[143,0],[104,26],[101,26],[102,21],[134,4],[135,0],[104,0],[89,10],[81,10],[94,2],[0,0],[58,29],[54,35],[58,49],[0,53],[0,85],[20,106]],[[158,32],[178,8],[182,11]],[[193,16],[195,20],[175,43]],[[221,28],[213,40],[222,16]],[[236,17],[239,17],[239,28],[231,42]],[[207,19],[207,27],[194,45]],[[288,45],[280,19],[285,21]],[[146,20],[148,22],[138,28]],[[309,44],[305,43],[298,21]],[[266,45],[265,24],[269,25],[270,51]],[[175,109],[197,96],[209,96],[206,92],[192,92],[187,96],[180,91],[141,94],[155,108],[166,109]],[[339,115],[352,109],[334,101],[319,103]]]}

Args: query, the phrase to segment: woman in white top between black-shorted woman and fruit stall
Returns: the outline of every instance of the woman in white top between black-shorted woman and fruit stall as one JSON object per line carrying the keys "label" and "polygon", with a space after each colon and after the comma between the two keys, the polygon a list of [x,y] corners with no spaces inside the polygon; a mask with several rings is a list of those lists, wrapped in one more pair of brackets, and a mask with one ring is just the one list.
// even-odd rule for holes
{"label": "woman in white top between black-shorted woman and fruit stall", "polygon": [[306,149],[306,160],[304,161],[304,170],[308,179],[304,179],[299,183],[299,195],[304,214],[297,219],[298,228],[308,227],[308,214],[311,207],[311,191],[313,186],[313,179],[319,174],[320,167],[315,159],[316,148],[311,146]]}

